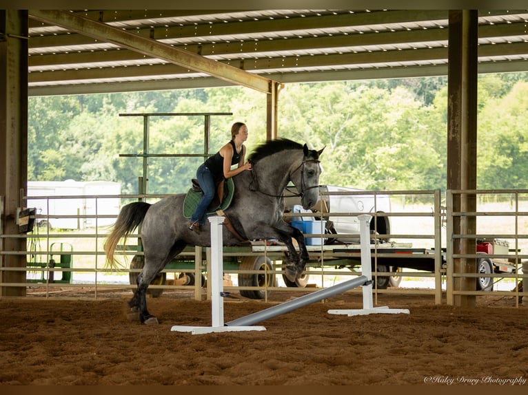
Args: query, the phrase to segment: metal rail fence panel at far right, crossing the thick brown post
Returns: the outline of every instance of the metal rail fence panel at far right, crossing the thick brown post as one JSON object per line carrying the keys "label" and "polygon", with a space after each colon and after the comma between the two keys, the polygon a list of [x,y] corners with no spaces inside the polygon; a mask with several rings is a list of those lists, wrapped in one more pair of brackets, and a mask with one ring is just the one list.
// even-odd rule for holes
{"label": "metal rail fence panel at far right, crossing the thick brown post", "polygon": [[[469,198],[475,200],[476,211],[456,209],[456,200]],[[464,289],[461,281],[480,279],[482,285],[489,284],[496,295],[516,296],[516,304],[522,292],[522,278],[528,277],[528,191],[519,189],[502,190],[448,190],[447,205],[447,303],[454,304],[457,295],[489,295],[483,289]],[[460,226],[456,233],[455,225],[471,218],[476,221],[474,231]],[[469,240],[469,246],[498,241],[488,253],[469,248],[463,253],[460,244]],[[477,273],[456,273],[455,261],[476,266]],[[471,267],[470,266],[470,267]],[[524,272],[522,270],[524,268]],[[523,272],[523,273],[522,273]],[[522,274],[521,274],[522,273]],[[485,279],[490,279],[489,283]],[[513,280],[513,281],[511,281]],[[511,284],[509,289],[496,289],[501,282]],[[472,284],[472,282],[471,282]],[[473,287],[471,287],[473,288]]]}

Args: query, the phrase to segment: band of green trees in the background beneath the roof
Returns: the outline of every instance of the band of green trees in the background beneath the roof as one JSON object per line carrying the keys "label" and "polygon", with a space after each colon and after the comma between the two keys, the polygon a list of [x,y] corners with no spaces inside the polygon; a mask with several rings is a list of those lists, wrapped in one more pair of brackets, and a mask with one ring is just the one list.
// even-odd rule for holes
{"label": "band of green trees in the background beneath the roof", "polygon": [[[478,187],[525,188],[528,73],[478,80]],[[447,78],[288,84],[278,100],[278,136],[325,148],[321,183],[374,190],[445,189]],[[152,116],[148,192],[182,193],[205,151],[230,140],[233,122],[250,131],[248,151],[266,139],[266,95],[245,87],[30,98],[29,180],[108,180],[137,193],[143,175],[143,117],[123,113],[232,112]]]}

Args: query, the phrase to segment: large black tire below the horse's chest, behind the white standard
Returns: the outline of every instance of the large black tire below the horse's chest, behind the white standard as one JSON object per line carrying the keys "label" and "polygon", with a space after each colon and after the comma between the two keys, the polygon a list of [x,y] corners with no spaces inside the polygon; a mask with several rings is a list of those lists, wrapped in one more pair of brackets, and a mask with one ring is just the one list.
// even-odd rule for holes
{"label": "large black tire below the horse's chest, behind the white standard", "polygon": [[[272,272],[272,261],[268,257],[243,257],[241,260],[240,270],[261,270],[262,274],[240,273],[238,275],[238,285],[243,287],[268,287],[275,286],[275,275],[273,273],[264,274],[265,270]],[[270,295],[267,291],[267,296]],[[241,290],[240,295],[249,299],[265,299],[265,290]]]}

